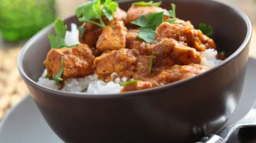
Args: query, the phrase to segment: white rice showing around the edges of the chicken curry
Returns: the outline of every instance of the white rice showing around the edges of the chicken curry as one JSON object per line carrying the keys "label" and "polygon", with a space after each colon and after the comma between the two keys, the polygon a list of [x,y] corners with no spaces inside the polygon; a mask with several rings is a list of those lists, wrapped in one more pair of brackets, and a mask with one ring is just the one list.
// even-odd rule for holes
{"label": "white rice showing around the edges of the chicken curry", "polygon": [[[79,43],[78,40],[78,27],[74,23],[71,24],[71,31],[67,31],[65,36],[65,43],[67,45],[76,45]],[[203,57],[203,65],[209,66],[210,68],[219,64],[222,60],[217,59],[218,52],[213,49],[208,49],[204,52],[201,52],[201,56]],[[46,78],[46,69],[43,71],[42,76],[38,79],[38,84],[41,86],[46,86],[48,88],[52,88],[58,90],[58,86],[55,84],[55,81]],[[126,77],[119,79],[117,73],[112,73],[110,78],[113,81],[105,82],[98,79],[97,74],[91,74],[86,76],[85,78],[73,78],[66,79],[64,81],[64,86],[61,91],[65,92],[74,92],[74,93],[85,93],[85,94],[110,94],[110,93],[119,93],[123,86],[120,83],[127,81]],[[133,80],[133,79],[131,79]]]}

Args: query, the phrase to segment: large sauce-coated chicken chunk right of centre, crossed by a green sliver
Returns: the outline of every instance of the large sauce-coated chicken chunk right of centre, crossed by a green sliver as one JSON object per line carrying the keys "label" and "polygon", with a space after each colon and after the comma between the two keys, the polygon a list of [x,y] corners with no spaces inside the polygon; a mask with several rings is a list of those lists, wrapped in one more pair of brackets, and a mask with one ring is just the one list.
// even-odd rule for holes
{"label": "large sauce-coated chicken chunk right of centre, crossed by a green sliver", "polygon": [[[148,49],[149,50],[149,49]],[[183,45],[183,42],[177,42],[174,39],[163,38],[151,44],[149,55],[140,55],[137,64],[137,74],[135,77],[149,76],[162,69],[168,69],[174,64],[201,64],[202,57],[199,52],[191,47]],[[149,59],[155,53],[152,59],[152,69],[149,73]]]}

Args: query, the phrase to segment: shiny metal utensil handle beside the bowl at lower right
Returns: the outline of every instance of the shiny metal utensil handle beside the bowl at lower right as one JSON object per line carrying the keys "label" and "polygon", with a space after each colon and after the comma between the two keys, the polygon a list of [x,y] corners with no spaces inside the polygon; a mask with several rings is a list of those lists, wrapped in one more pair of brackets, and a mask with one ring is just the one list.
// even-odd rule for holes
{"label": "shiny metal utensil handle beside the bowl at lower right", "polygon": [[238,122],[226,126],[215,134],[202,137],[201,141],[196,143],[225,143],[228,141],[230,135],[241,127],[256,127],[256,103],[244,118],[238,120]]}

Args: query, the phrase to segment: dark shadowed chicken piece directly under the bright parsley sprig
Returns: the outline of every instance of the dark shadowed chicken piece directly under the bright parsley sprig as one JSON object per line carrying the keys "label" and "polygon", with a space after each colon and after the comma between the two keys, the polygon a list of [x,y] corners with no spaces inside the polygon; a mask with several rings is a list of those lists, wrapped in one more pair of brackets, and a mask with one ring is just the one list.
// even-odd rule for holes
{"label": "dark shadowed chicken piece directly under the bright parsley sprig", "polygon": [[92,23],[83,23],[81,27],[85,28],[85,33],[80,33],[79,41],[82,44],[87,44],[89,47],[95,47],[97,40],[102,33],[102,28]]}

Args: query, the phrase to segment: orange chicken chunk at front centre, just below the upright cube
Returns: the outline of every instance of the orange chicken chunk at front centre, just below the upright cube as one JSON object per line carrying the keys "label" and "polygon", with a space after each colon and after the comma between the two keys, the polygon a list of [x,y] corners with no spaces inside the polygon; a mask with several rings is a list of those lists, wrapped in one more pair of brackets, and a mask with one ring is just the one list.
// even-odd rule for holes
{"label": "orange chicken chunk at front centre, just below the upright cube", "polygon": [[113,50],[96,57],[94,65],[97,74],[112,74],[127,71],[132,74],[137,62],[136,51],[129,49]]}

